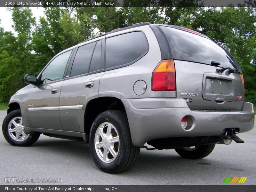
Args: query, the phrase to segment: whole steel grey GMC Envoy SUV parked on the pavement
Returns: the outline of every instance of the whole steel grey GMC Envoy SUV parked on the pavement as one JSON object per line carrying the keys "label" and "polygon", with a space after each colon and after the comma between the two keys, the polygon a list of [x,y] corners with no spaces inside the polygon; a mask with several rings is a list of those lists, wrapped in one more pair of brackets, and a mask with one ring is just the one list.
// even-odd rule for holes
{"label": "whole steel grey GMC Envoy SUV parked on the pavement", "polygon": [[[129,170],[140,148],[189,159],[254,125],[241,68],[190,29],[139,23],[70,47],[24,77],[3,122],[5,139],[29,146],[40,134],[90,143],[108,173]],[[146,144],[146,145],[145,145]]]}

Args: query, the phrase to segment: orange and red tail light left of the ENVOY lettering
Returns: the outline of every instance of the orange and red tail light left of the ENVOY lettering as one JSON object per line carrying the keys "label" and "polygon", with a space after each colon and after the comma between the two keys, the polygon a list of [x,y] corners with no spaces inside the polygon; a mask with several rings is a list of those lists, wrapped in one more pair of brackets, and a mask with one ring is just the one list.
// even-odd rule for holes
{"label": "orange and red tail light left of the ENVOY lettering", "polygon": [[152,73],[152,91],[176,91],[174,60],[162,60]]}

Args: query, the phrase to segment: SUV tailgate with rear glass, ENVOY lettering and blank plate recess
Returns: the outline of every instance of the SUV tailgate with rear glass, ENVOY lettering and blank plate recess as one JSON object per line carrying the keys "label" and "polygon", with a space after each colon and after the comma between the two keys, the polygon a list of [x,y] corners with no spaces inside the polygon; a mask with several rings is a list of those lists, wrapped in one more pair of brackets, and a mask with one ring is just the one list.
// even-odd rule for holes
{"label": "SUV tailgate with rear glass, ENVOY lettering and blank plate recess", "polygon": [[176,94],[191,109],[241,110],[242,76],[216,69],[241,72],[233,57],[212,40],[192,32],[161,26],[172,51],[176,71]]}

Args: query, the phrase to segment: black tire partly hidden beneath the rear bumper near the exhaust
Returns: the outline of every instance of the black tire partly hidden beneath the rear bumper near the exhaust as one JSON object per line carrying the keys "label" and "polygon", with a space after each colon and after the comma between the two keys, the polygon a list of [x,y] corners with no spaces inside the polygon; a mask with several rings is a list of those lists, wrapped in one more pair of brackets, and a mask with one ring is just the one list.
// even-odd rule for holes
{"label": "black tire partly hidden beneath the rear bumper near the exhaust", "polygon": [[175,151],[186,159],[201,159],[208,156],[215,147],[214,144],[197,146],[194,150],[187,150],[185,148],[177,148]]}

